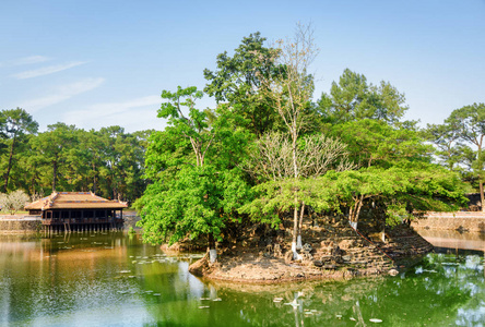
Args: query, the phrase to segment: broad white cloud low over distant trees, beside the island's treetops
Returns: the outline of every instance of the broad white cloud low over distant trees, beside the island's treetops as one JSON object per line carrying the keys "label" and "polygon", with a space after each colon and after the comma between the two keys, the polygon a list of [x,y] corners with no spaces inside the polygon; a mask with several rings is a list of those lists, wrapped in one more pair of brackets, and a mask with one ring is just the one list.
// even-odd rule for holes
{"label": "broad white cloud low over distant trees, beside the island's treetops", "polygon": [[96,104],[85,110],[66,112],[63,121],[84,129],[120,125],[131,132],[159,130],[165,126],[165,121],[156,118],[161,102],[159,96],[146,96],[122,102]]}

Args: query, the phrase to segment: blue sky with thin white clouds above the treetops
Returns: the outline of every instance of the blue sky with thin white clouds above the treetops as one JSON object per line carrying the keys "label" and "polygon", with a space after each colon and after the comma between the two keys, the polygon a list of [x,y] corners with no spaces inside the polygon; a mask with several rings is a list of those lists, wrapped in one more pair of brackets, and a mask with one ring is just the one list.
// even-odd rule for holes
{"label": "blue sky with thin white clouds above the treetops", "polygon": [[258,31],[292,36],[297,22],[320,48],[315,99],[348,68],[404,93],[422,125],[485,102],[485,0],[1,0],[0,109],[24,108],[42,130],[162,130],[162,89],[203,88],[218,53]]}

